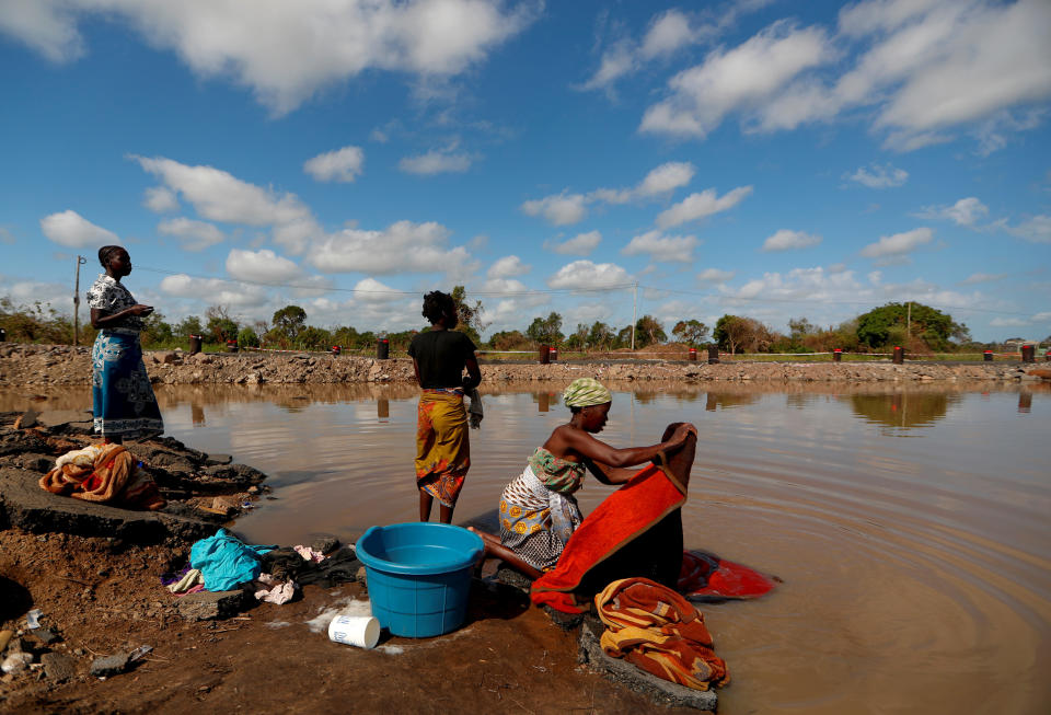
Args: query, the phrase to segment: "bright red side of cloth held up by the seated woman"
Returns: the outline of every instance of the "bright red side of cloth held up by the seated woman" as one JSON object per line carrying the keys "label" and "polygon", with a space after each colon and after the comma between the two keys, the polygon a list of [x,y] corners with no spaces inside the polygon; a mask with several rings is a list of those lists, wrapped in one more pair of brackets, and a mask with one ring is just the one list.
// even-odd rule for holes
{"label": "bright red side of cloth held up by the seated woman", "polygon": [[564,613],[586,611],[590,595],[578,603],[573,593],[584,576],[685,501],[685,486],[656,464],[639,470],[569,537],[558,565],[533,583],[533,603]]}

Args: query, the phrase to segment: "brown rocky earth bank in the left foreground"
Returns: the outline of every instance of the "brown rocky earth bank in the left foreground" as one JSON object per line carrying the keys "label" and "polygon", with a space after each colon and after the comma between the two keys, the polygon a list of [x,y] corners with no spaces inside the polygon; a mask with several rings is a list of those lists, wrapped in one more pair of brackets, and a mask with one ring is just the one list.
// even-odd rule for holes
{"label": "brown rocky earth bank in the left foreground", "polygon": [[622,713],[674,702],[597,674],[580,628],[553,624],[493,578],[493,563],[473,583],[464,627],[388,636],[374,650],[332,643],[324,627],[368,599],[365,583],[305,586],[284,606],[242,591],[177,598],[160,575],[241,510],[265,508],[264,475],[169,438],[128,445],[168,499],[160,512],[41,489],[89,429],[83,412],[0,413],[0,712]]}

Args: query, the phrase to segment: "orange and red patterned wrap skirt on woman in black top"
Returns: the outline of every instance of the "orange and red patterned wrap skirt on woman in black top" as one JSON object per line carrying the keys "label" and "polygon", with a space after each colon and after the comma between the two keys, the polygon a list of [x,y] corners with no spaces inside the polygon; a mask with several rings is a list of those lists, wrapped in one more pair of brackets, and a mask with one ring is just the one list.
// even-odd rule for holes
{"label": "orange and red patterned wrap skirt on woman in black top", "polygon": [[463,390],[424,390],[416,419],[416,486],[454,507],[470,468]]}

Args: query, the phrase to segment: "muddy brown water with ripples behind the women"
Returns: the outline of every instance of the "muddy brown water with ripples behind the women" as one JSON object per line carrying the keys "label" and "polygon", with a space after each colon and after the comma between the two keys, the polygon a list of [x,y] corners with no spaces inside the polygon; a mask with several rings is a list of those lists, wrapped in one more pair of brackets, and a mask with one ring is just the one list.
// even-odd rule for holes
{"label": "muddy brown water with ripples behind the women", "polygon": [[[494,390],[496,394],[494,394]],[[567,419],[555,389],[489,389],[457,521]],[[256,543],[416,518],[411,385],[162,388],[168,434],[270,475],[235,524]],[[0,408],[27,406],[0,393]],[[51,407],[90,406],[86,390]],[[702,606],[743,713],[1051,712],[1051,391],[623,385],[601,439],[700,429],[688,547],[776,574]],[[590,477],[589,477],[590,480]],[[585,514],[609,494],[589,481]]]}

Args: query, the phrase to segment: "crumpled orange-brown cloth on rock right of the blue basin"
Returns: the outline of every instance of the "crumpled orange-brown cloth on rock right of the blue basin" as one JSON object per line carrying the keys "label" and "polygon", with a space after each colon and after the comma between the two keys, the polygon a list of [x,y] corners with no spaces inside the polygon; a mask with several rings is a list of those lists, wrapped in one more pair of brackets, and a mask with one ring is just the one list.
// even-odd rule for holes
{"label": "crumpled orange-brown cloth on rock right of the blue basin", "polygon": [[594,597],[608,630],[602,649],[658,678],[707,690],[729,682],[704,615],[679,593],[648,578],[624,578]]}

